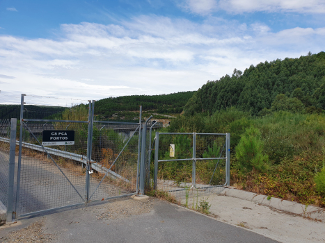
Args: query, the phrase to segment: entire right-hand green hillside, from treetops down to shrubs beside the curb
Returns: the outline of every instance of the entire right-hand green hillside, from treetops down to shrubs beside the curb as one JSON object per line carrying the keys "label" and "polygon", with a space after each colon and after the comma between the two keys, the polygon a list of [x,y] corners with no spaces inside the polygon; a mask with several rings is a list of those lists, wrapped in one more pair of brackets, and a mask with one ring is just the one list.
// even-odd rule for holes
{"label": "entire right-hand green hillside, from treetops down to shrubs beside the curb", "polygon": [[164,130],[230,133],[232,186],[325,207],[324,110],[320,52],[207,82]]}

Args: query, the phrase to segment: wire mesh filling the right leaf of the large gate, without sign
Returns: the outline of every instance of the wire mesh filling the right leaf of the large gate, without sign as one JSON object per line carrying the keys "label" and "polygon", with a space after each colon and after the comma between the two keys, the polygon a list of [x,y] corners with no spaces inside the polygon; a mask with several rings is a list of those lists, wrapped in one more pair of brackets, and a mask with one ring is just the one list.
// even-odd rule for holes
{"label": "wire mesh filling the right leaf of the large gate, without sign", "polygon": [[138,124],[96,122],[92,158],[101,169],[91,174],[90,200],[136,192]]}

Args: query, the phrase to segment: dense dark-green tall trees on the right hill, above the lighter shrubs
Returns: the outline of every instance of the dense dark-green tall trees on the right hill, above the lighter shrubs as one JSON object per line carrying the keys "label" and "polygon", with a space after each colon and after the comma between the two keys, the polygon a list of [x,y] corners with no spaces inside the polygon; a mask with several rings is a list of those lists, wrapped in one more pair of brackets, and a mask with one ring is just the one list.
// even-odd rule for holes
{"label": "dense dark-green tall trees on the right hill, above the lighter shrubs", "polygon": [[[282,95],[281,95],[282,94]],[[325,109],[325,53],[251,65],[243,72],[208,81],[184,107],[185,115],[236,107],[251,115],[270,111]]]}

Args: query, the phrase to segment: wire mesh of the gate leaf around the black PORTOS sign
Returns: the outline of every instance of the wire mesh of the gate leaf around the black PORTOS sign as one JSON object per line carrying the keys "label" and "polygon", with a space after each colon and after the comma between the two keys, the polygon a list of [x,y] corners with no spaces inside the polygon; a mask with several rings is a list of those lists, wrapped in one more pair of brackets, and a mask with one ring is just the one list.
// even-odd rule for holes
{"label": "wire mesh of the gate leaf around the black PORTOS sign", "polygon": [[[69,126],[68,126],[69,125]],[[85,201],[87,123],[23,124],[19,215]],[[73,145],[41,146],[42,131],[72,130]]]}

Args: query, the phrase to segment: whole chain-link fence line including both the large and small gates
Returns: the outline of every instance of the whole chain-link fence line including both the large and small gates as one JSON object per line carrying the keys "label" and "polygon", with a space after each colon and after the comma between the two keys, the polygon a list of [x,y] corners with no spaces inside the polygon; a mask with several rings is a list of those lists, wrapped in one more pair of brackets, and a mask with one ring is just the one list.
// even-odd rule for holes
{"label": "whole chain-link fence line including both the large and small gates", "polygon": [[152,187],[194,207],[200,196],[229,185],[228,133],[154,134],[151,117],[145,124],[95,121],[95,101],[63,110],[35,108],[35,98],[26,109],[25,101],[22,95],[19,139],[10,137],[10,120],[0,120],[0,208],[8,204],[13,164],[13,217],[141,196]]}

